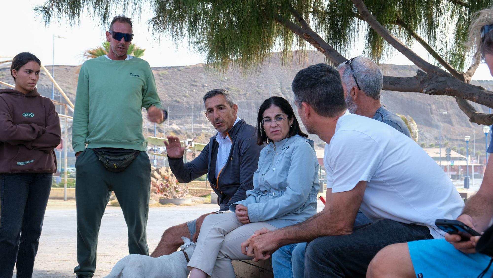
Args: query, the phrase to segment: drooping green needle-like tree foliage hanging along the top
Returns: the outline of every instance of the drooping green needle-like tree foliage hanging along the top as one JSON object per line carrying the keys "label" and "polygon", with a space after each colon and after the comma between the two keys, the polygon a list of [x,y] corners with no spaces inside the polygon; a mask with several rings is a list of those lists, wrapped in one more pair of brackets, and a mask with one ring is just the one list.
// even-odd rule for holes
{"label": "drooping green needle-like tree foliage hanging along the top", "polygon": [[[412,34],[423,38],[459,71],[468,56],[464,41],[473,12],[488,7],[492,0],[365,0],[375,18],[400,40],[415,42]],[[366,55],[379,61],[394,51],[380,35],[369,28],[348,0],[47,0],[35,7],[46,24],[55,19],[78,23],[89,11],[105,26],[118,8],[127,14],[141,9],[154,11],[148,21],[153,33],[171,35],[176,42],[194,41],[206,53],[207,62],[222,69],[230,65],[258,69],[272,52],[281,50],[291,58],[291,50],[307,48],[307,43],[284,25],[299,24],[298,12],[310,27],[342,54],[360,41],[365,28]],[[435,62],[440,66],[438,62]],[[440,66],[441,67],[441,66]]]}

